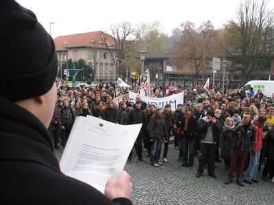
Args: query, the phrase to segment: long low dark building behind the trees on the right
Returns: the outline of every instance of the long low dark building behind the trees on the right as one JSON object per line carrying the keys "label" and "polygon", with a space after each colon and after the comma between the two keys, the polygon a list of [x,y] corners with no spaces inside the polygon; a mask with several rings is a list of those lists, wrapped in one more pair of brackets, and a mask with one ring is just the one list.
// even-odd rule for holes
{"label": "long low dark building behind the trees on the right", "polygon": [[[247,81],[251,80],[274,80],[274,56],[262,57],[263,61],[267,61],[266,66],[258,65],[258,70],[251,72],[247,76]],[[192,64],[177,64],[173,60],[173,53],[165,51],[162,53],[151,53],[146,55],[145,69],[157,70],[151,74],[151,81],[155,83],[163,83],[164,85],[181,86],[181,87],[197,87],[203,86],[208,78],[210,85],[213,85],[212,59],[206,59],[206,67],[199,72],[196,77],[195,67]],[[242,87],[240,63],[234,63],[232,59],[222,61],[220,70],[214,73],[214,84],[222,87],[223,79],[225,79],[225,88]],[[158,79],[155,79],[158,76]],[[197,78],[197,80],[196,80]]]}

